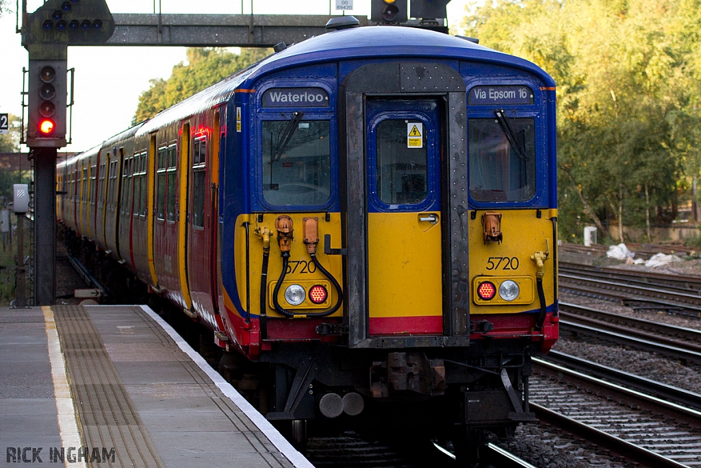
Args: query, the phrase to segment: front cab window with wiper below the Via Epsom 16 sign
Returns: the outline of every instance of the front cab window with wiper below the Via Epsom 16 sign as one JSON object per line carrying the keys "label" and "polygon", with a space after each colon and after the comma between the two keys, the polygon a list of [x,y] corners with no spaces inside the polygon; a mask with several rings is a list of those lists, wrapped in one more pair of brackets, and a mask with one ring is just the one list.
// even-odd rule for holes
{"label": "front cab window with wiper below the Via Epsom 16 sign", "polygon": [[536,194],[534,119],[470,119],[470,196],[526,201]]}

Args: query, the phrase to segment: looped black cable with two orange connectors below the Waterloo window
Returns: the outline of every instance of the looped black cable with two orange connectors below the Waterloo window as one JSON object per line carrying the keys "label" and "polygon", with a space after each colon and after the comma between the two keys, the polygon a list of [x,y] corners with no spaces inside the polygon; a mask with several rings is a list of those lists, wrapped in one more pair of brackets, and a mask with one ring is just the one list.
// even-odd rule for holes
{"label": "looped black cable with two orange connectors below the Waterloo window", "polygon": [[280,279],[278,279],[278,283],[275,284],[275,290],[273,290],[273,305],[275,306],[275,311],[277,311],[278,314],[282,314],[286,317],[292,318],[300,315],[304,315],[306,317],[329,316],[336,312],[339,307],[341,307],[341,302],[343,302],[343,291],[341,290],[341,285],[338,281],[336,281],[334,276],[321,265],[318,258],[316,258],[316,245],[319,243],[318,236],[316,235],[317,222],[317,218],[304,218],[304,245],[306,245],[307,252],[311,256],[314,265],[334,285],[336,294],[338,295],[336,304],[331,309],[322,312],[293,312],[280,305],[280,301],[278,301],[278,293],[280,293],[280,287],[283,285],[283,281],[285,281],[285,276],[287,275],[287,262],[290,260],[290,244],[292,243],[292,232],[294,231],[294,229],[292,229],[292,218],[287,215],[282,215],[275,220],[275,229],[278,230],[278,243],[280,244],[281,252],[280,255],[283,258],[283,271],[280,272]]}

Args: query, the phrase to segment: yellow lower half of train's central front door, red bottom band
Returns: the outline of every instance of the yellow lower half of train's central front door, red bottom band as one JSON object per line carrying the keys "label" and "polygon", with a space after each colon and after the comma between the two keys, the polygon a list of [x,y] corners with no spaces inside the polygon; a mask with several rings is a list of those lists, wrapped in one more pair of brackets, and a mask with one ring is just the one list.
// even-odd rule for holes
{"label": "yellow lower half of train's central front door, red bottom band", "polygon": [[368,213],[371,334],[442,333],[440,213]]}

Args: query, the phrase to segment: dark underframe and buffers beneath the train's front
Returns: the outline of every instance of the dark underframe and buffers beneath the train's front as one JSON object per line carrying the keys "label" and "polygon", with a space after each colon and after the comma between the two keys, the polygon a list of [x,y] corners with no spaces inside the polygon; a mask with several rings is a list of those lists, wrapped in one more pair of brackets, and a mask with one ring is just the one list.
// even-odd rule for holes
{"label": "dark underframe and buffers beneath the train's front", "polygon": [[486,430],[509,435],[536,420],[529,411],[526,337],[454,349],[280,343],[261,357],[253,363],[224,354],[219,370],[299,448],[306,422],[314,421],[395,434],[404,443],[446,441],[472,459]]}

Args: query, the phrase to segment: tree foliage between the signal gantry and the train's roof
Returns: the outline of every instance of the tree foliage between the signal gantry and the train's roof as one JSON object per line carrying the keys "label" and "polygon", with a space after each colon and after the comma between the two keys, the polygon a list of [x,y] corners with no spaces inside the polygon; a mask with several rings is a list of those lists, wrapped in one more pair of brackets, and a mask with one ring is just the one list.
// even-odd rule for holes
{"label": "tree foliage between the signal gantry and the train's roof", "polygon": [[167,80],[151,80],[151,88],[139,96],[132,123],[149,119],[226,76],[258,62],[269,53],[269,49],[263,48],[242,48],[238,55],[222,48],[187,49],[189,64],[180,62],[175,65]]}

